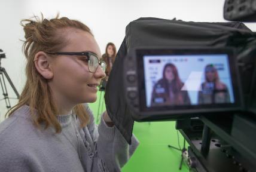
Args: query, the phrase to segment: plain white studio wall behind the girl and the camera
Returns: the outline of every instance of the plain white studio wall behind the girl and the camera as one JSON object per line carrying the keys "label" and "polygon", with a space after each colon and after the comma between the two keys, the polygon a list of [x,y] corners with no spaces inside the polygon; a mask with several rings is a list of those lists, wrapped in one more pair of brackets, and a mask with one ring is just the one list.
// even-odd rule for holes
{"label": "plain white studio wall behind the girl and the camera", "polygon": [[[139,17],[159,17],[184,21],[224,21],[224,0],[0,0],[0,48],[7,53],[2,60],[19,93],[25,83],[25,57],[22,54],[23,30],[21,19],[28,19],[40,12],[45,17],[60,16],[77,19],[92,29],[102,53],[108,42],[114,42],[117,50],[125,36],[126,25]],[[246,24],[256,30],[256,24]],[[8,85],[10,97],[15,94]],[[2,99],[0,89],[0,99]],[[12,100],[14,105],[16,101]],[[0,101],[0,115],[6,112],[4,101]],[[0,118],[1,119],[1,118]]]}

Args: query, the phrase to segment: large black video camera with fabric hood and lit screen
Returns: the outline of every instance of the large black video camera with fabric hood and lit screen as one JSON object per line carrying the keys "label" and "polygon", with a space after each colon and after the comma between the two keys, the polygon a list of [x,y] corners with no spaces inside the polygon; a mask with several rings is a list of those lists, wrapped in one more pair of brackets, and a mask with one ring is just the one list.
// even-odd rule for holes
{"label": "large black video camera with fabric hood and lit screen", "polygon": [[[256,1],[227,0],[224,18],[256,21],[255,9]],[[176,121],[190,171],[255,171],[255,54],[256,35],[240,22],[132,21],[106,110],[129,143],[133,120]]]}

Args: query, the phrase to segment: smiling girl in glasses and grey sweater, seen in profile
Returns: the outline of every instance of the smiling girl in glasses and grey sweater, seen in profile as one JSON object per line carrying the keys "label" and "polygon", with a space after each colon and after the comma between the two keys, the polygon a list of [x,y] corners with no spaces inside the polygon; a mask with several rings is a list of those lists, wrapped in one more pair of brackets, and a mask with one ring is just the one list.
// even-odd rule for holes
{"label": "smiling girl in glasses and grey sweater, seen in profile", "polygon": [[105,75],[89,27],[66,17],[22,20],[27,81],[0,124],[0,171],[121,171],[128,145],[104,112],[99,126],[86,103]]}

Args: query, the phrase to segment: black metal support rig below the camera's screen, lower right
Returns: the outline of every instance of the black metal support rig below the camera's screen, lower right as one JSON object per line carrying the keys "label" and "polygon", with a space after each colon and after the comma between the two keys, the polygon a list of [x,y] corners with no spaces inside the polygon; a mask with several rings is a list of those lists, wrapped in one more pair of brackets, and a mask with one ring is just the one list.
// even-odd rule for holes
{"label": "black metal support rig below the camera's screen, lower right", "polygon": [[[202,127],[199,126],[202,122]],[[199,172],[239,172],[256,169],[255,114],[225,113],[200,116],[198,124],[178,128],[188,143],[188,167]],[[200,128],[200,130],[195,130]]]}

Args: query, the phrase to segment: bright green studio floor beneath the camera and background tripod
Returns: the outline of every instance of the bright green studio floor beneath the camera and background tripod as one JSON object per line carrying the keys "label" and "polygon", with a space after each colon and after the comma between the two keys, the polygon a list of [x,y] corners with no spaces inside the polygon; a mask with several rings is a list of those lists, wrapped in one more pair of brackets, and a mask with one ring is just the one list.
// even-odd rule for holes
{"label": "bright green studio floor beneath the camera and background tripod", "polygon": [[[93,110],[95,118],[99,105],[102,105],[103,94],[98,92],[98,99],[89,106]],[[99,111],[105,110],[105,106]],[[178,148],[178,136],[175,130],[175,122],[135,122],[133,134],[138,138],[140,144],[129,162],[122,168],[123,172],[178,172],[188,171],[188,167],[183,164],[179,170],[181,152],[168,148],[172,145]],[[179,134],[180,145],[183,137]]]}

